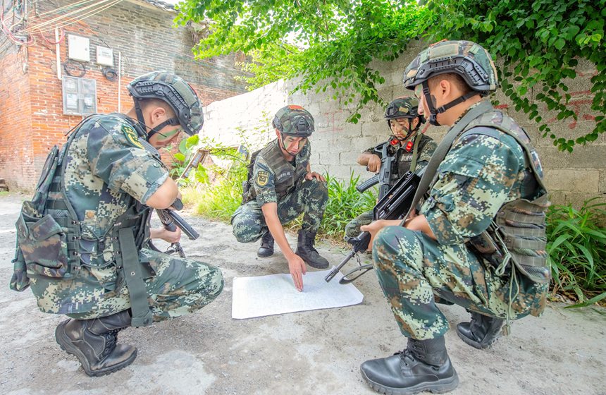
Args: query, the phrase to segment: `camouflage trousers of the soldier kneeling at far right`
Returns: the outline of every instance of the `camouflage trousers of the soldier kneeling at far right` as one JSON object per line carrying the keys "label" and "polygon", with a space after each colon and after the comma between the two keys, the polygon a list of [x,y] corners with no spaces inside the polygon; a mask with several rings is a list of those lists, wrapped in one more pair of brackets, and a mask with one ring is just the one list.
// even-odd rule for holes
{"label": "camouflage trousers of the soldier kneeling at far right", "polygon": [[434,293],[503,319],[508,313],[512,320],[539,315],[545,308],[548,284],[533,283],[517,270],[499,277],[464,244],[440,245],[402,226],[386,226],[376,234],[373,264],[400,331],[413,339],[434,339],[448,330]]}

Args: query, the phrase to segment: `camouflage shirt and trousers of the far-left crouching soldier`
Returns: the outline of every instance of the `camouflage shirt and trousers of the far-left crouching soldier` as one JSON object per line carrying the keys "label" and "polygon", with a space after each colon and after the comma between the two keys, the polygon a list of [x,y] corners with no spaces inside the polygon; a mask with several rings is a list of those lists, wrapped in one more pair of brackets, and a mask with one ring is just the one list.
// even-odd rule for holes
{"label": "camouflage shirt and trousers of the far-left crouching soldier", "polygon": [[[80,262],[72,265],[69,278],[39,275],[40,268],[29,263],[27,275],[40,310],[82,320],[130,308],[125,273],[116,265],[120,248],[109,235],[125,212],[137,217],[149,210],[139,202],[147,202],[168,171],[143,149],[139,126],[120,114],[92,116],[73,133],[62,185],[78,217],[80,236],[73,254]],[[221,293],[218,268],[142,248],[149,241],[149,222],[139,228],[139,259],[154,321],[199,310]]]}

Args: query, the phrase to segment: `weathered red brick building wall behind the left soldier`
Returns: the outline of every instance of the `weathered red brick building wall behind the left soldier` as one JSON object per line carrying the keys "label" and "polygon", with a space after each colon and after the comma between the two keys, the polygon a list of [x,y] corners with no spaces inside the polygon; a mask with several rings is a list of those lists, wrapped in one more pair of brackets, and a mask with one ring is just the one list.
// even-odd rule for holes
{"label": "weathered red brick building wall behind the left soldier", "polygon": [[[37,10],[30,10],[42,15],[56,4],[63,6],[70,2],[53,3],[39,1]],[[175,13],[133,0],[66,26],[66,37],[71,33],[90,40],[91,61],[84,63],[83,77],[97,81],[99,113],[128,111],[132,100],[126,85],[137,75],[154,70],[181,75],[192,84],[204,105],[245,92],[244,85],[235,80],[241,74],[234,66],[235,56],[196,61],[191,52],[192,35],[186,28],[173,28],[174,17]],[[30,18],[30,24],[37,22],[35,16]],[[121,85],[117,80],[105,78],[101,66],[94,63],[97,45],[113,49],[116,71],[118,51],[122,54]],[[67,39],[59,47],[63,63],[68,60]],[[55,49],[54,44],[42,37],[37,37],[36,44],[30,47],[17,47],[1,36],[0,178],[5,178],[12,188],[33,188],[47,152],[53,145],[63,143],[65,133],[82,120],[82,116],[63,115]],[[23,65],[27,68],[25,72]]]}

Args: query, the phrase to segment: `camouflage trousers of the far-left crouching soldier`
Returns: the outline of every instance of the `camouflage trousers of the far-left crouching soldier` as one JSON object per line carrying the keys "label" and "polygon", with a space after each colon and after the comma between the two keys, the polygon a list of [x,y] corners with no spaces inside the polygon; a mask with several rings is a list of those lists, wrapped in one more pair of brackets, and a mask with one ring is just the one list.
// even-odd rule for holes
{"label": "camouflage trousers of the far-left crouching soldier", "polygon": [[[144,283],[156,322],[195,312],[215,300],[223,290],[223,274],[213,265],[147,248],[140,250],[139,258],[147,267],[144,272],[150,273]],[[130,308],[128,288],[116,283],[124,284],[124,279],[111,265],[103,269],[83,266],[70,281],[31,279],[30,286],[43,312],[85,320]]]}

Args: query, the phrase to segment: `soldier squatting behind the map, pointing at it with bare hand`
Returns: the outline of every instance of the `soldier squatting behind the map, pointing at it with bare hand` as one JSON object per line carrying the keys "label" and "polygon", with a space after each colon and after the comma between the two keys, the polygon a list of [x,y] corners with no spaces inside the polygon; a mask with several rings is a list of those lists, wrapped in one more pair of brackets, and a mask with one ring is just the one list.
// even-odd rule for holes
{"label": "soldier squatting behind the map, pointing at it with bare hand", "polygon": [[[300,106],[281,108],[273,119],[276,140],[256,155],[252,172],[252,188],[242,205],[233,214],[233,234],[240,243],[261,240],[257,255],[273,255],[274,238],[288,260],[288,269],[295,287],[303,290],[304,263],[316,269],[326,269],[328,260],[314,248],[316,232],[322,221],[328,188],[321,174],[311,171],[309,155],[314,133],[314,118]],[[292,252],[282,224],[304,213]]]}

